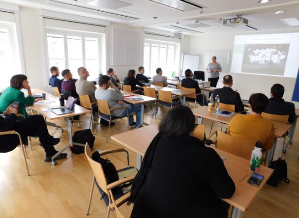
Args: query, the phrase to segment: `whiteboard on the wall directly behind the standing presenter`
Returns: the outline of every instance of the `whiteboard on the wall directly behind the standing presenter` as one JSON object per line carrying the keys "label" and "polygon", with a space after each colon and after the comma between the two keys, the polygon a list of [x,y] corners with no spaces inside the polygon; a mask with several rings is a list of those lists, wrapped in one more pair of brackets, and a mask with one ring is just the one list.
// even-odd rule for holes
{"label": "whiteboard on the wall directly behind the standing presenter", "polygon": [[231,50],[206,50],[203,70],[206,70],[208,64],[212,62],[212,56],[216,56],[217,62],[221,65],[221,73],[227,74],[229,72]]}

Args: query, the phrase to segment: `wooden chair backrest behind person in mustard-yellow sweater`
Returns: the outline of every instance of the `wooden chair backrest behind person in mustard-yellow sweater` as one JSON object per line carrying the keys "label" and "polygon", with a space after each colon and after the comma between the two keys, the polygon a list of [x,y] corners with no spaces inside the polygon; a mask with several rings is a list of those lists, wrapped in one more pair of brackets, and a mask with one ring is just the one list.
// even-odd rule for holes
{"label": "wooden chair backrest behind person in mustard-yellow sweater", "polygon": [[250,161],[256,140],[242,139],[217,131],[216,148]]}

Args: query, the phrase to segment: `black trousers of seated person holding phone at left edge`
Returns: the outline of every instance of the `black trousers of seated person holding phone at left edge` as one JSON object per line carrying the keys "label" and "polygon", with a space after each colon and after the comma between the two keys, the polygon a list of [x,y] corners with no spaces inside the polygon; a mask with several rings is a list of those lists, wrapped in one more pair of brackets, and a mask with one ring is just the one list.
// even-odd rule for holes
{"label": "black trousers of seated person holding phone at left edge", "polygon": [[[16,121],[9,130],[18,132],[24,142],[27,142],[28,136],[37,136],[47,155],[53,156],[57,153],[53,146],[52,136],[50,136],[46,122],[41,115],[29,116],[22,122]],[[20,144],[16,135],[0,136],[0,141],[0,152],[12,151]]]}

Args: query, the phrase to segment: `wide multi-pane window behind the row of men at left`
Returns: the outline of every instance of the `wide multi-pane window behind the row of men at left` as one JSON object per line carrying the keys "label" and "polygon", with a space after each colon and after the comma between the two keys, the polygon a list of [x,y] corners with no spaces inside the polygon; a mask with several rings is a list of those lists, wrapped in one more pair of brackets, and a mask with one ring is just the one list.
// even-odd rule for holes
{"label": "wide multi-pane window behind the row of men at left", "polygon": [[90,80],[98,77],[101,68],[100,34],[81,32],[47,32],[48,68],[57,66],[60,72],[69,69],[73,78],[78,79],[77,69],[86,67]]}

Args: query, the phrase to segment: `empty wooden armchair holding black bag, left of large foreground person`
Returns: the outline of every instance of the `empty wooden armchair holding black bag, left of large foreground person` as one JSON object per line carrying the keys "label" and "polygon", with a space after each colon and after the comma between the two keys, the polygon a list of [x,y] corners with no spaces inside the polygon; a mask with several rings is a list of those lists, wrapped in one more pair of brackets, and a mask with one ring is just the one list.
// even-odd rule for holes
{"label": "empty wooden armchair holding black bag, left of large foreground person", "polygon": [[[113,149],[108,149],[108,150],[104,150],[104,151],[99,151],[99,154],[100,154],[100,156],[103,156],[103,155],[118,153],[118,152],[126,153],[127,166],[123,169],[118,170],[120,180],[113,182],[111,184],[108,184],[102,165],[100,163],[92,160],[92,158],[91,158],[92,154],[90,151],[90,147],[88,146],[88,143],[86,143],[85,155],[86,155],[87,160],[89,161],[91,169],[93,171],[90,197],[89,197],[88,208],[87,208],[87,215],[89,215],[89,212],[90,212],[90,203],[91,203],[94,184],[96,184],[96,186],[98,187],[99,191],[102,194],[102,198],[104,199],[105,204],[108,207],[106,218],[109,217],[110,211],[114,210],[114,205],[112,204],[111,196],[113,196],[114,199],[117,201],[117,206],[124,203],[125,201],[123,201],[123,199],[125,199],[128,196],[128,193],[124,194],[123,192],[118,192],[118,193],[114,193],[113,195],[110,195],[109,190],[112,190],[113,188],[115,188],[121,184],[128,183],[128,182],[132,181],[134,179],[135,175],[137,174],[137,172],[138,172],[137,169],[129,166],[129,153],[124,148],[113,148]],[[120,175],[123,172],[126,172],[127,175],[124,175],[124,174]]]}

